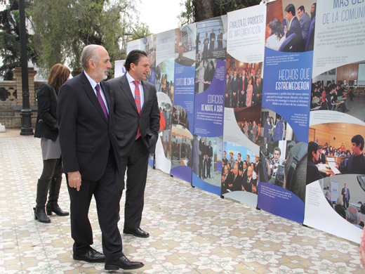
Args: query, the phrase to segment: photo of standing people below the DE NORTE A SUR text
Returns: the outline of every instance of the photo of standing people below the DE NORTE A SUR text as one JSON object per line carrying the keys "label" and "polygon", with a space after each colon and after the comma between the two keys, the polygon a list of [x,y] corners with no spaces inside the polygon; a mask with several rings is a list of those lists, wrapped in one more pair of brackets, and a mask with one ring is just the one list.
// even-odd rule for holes
{"label": "photo of standing people below the DE NORTE A SUR text", "polygon": [[201,180],[211,185],[220,185],[222,147],[222,137],[200,137],[194,135],[191,153],[193,159],[192,171]]}

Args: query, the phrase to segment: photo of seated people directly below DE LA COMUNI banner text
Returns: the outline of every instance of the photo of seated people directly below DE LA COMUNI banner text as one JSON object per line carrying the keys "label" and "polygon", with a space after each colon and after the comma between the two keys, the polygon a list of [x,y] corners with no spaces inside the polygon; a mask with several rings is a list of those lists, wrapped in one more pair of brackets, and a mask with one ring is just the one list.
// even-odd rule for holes
{"label": "photo of seated people directly below DE LA COMUNI banner text", "polygon": [[344,112],[364,121],[365,62],[323,72],[312,79],[310,110]]}

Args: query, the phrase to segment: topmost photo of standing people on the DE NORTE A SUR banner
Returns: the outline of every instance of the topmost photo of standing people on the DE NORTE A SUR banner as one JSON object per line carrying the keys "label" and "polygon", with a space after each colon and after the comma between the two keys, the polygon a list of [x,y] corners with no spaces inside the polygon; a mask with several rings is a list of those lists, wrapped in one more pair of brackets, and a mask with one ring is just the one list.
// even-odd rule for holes
{"label": "topmost photo of standing people on the DE NORTE A SUR banner", "polygon": [[223,26],[223,16],[211,18],[197,24],[197,51],[195,53],[197,63],[206,59],[225,60],[227,24],[225,27]]}

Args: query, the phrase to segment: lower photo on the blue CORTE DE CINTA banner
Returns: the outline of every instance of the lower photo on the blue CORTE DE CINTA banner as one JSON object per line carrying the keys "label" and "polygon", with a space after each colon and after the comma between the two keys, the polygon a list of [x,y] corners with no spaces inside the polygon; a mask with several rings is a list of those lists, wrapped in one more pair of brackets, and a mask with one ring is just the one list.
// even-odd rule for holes
{"label": "lower photo on the blue CORTE DE CINTA banner", "polygon": [[192,133],[183,126],[171,129],[171,169],[179,166],[192,168]]}

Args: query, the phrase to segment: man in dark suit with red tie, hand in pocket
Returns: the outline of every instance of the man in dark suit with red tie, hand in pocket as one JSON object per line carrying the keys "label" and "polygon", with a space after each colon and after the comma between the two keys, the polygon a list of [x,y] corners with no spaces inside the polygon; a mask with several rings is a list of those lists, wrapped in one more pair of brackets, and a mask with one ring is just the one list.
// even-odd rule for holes
{"label": "man in dark suit with red tie, hand in pocket", "polygon": [[124,174],[128,167],[123,233],[149,237],[147,232],[140,229],[140,222],[148,157],[150,154],[154,155],[159,133],[159,104],[156,88],[145,81],[147,73],[150,72],[150,63],[145,51],[131,51],[124,66],[126,74],[107,81],[121,157],[119,200],[124,190]]}

